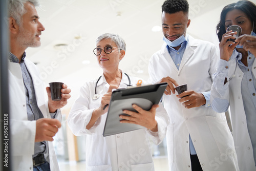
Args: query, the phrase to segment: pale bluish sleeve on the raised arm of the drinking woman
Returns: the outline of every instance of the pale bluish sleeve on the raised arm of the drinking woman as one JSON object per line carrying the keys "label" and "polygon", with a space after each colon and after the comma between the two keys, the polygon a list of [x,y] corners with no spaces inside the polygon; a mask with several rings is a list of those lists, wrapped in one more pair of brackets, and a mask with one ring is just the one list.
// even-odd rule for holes
{"label": "pale bluish sleeve on the raised arm of the drinking woman", "polygon": [[214,74],[214,82],[211,86],[210,102],[212,109],[216,112],[226,112],[229,106],[229,81],[228,80],[229,63],[226,60],[220,59],[217,72]]}

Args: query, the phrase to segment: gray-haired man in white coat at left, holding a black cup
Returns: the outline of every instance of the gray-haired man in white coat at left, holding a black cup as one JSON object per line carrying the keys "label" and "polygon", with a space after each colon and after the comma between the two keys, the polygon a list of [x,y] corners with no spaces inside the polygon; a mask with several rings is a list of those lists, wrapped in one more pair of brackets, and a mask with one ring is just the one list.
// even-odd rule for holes
{"label": "gray-haired man in white coat at left, holding a black cup", "polygon": [[[70,89],[64,84],[61,100],[51,99],[34,63],[26,58],[28,47],[39,47],[41,32],[36,0],[9,0],[9,89],[13,170],[59,170],[53,137],[61,126],[60,108]],[[45,91],[48,101],[45,101]]]}

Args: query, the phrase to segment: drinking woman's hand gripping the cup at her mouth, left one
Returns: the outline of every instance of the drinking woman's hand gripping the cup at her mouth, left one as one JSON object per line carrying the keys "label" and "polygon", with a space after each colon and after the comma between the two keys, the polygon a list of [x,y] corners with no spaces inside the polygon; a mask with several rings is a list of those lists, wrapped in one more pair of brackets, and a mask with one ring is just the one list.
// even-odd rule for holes
{"label": "drinking woman's hand gripping the cup at her mouth, left one", "polygon": [[[232,30],[226,32],[222,35],[221,42],[219,44],[221,59],[228,61],[231,57],[234,48],[238,45],[238,40],[233,35],[237,34],[237,32],[232,32]],[[236,39],[233,41],[227,41],[228,39]]]}

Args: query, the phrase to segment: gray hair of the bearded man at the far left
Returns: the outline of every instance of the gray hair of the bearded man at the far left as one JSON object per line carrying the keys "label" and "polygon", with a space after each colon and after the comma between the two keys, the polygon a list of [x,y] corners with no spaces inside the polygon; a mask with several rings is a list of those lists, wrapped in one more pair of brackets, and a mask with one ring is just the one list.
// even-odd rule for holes
{"label": "gray hair of the bearded man at the far left", "polygon": [[27,2],[33,4],[35,7],[39,7],[40,5],[38,0],[9,0],[8,15],[9,17],[13,17],[18,25],[22,23],[22,16],[26,13],[24,4]]}

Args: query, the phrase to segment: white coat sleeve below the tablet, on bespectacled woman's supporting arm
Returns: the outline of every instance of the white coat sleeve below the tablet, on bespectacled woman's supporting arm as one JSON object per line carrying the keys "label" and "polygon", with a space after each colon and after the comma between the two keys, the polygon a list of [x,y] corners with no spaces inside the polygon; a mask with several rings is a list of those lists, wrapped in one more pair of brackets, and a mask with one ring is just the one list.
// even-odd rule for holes
{"label": "white coat sleeve below the tablet, on bespectacled woman's supporting arm", "polygon": [[162,142],[166,135],[167,125],[169,124],[169,116],[165,111],[163,105],[159,103],[159,108],[156,110],[155,119],[157,121],[157,132],[147,130],[153,142],[158,145]]}

